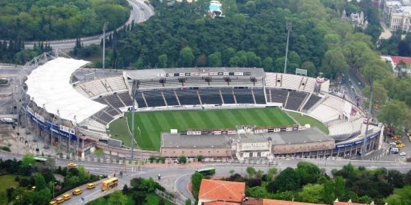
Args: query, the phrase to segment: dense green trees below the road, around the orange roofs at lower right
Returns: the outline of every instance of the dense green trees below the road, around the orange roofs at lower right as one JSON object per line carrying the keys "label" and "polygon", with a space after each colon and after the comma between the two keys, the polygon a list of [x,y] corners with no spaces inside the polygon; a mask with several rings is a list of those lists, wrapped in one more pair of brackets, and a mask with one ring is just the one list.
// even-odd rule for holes
{"label": "dense green trees below the road, around the orange roofs at lower right", "polygon": [[[330,177],[325,169],[308,162],[299,162],[297,168],[288,167],[279,173],[275,167],[266,173],[253,167],[246,171],[247,175],[241,176],[231,170],[231,176],[222,180],[245,182],[247,197],[316,204],[333,204],[337,198],[340,202],[364,204],[411,204],[411,172],[402,174],[395,169],[366,169],[348,164],[333,169]],[[199,173],[191,176],[196,199],[202,178]]]}

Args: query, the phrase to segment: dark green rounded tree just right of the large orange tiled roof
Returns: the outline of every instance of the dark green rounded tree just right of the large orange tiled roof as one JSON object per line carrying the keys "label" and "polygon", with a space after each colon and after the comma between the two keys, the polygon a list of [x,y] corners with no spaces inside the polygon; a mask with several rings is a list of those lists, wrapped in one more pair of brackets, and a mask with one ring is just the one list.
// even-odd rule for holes
{"label": "dark green rounded tree just right of the large orange tiled roof", "polygon": [[295,172],[291,167],[287,167],[282,172],[279,173],[277,178],[272,182],[269,182],[266,189],[267,191],[274,192],[284,192],[284,191],[295,191],[300,187],[299,174]]}

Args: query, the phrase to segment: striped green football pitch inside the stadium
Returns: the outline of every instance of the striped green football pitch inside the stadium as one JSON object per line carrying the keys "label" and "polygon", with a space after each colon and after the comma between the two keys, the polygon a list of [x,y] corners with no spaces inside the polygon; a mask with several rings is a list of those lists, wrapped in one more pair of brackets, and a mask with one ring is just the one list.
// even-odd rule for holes
{"label": "striped green football pitch inside the stadium", "polygon": [[[127,113],[127,120],[131,129],[132,113]],[[125,119],[120,118],[112,124],[110,124],[112,137],[123,140],[125,146],[130,146],[129,136],[125,136],[127,132],[121,131],[127,129]],[[138,143],[138,148],[160,150],[160,135],[162,132],[170,132],[170,129],[177,129],[181,132],[188,128],[236,128],[238,125],[283,126],[297,123],[280,109],[254,108],[145,111],[135,113],[134,124],[134,138]],[[137,126],[140,128],[141,135]]]}

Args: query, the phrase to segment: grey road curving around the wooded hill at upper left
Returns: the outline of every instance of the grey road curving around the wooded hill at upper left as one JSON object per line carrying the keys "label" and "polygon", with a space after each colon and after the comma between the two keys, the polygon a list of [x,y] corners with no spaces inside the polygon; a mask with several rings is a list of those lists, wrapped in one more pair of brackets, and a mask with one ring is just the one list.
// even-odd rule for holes
{"label": "grey road curving around the wooded hill at upper left", "polygon": [[[142,23],[154,15],[153,6],[147,5],[146,3],[144,3],[144,0],[127,0],[127,1],[129,2],[129,5],[131,5],[133,9],[130,11],[129,19],[121,27],[125,25],[129,25],[133,21],[134,23]],[[103,25],[101,25],[101,27],[102,26]],[[107,32],[106,35],[110,35],[110,33],[112,32],[113,31]],[[96,36],[84,37],[84,38],[81,38],[81,40],[85,46],[88,46],[91,44],[99,44],[101,42],[100,37],[101,37],[101,34],[96,35]],[[76,39],[73,38],[73,39],[66,39],[66,40],[51,40],[48,43],[51,45],[53,49],[73,49],[75,46],[75,41]],[[33,49],[34,43],[35,42],[33,41],[25,42],[25,48]]]}

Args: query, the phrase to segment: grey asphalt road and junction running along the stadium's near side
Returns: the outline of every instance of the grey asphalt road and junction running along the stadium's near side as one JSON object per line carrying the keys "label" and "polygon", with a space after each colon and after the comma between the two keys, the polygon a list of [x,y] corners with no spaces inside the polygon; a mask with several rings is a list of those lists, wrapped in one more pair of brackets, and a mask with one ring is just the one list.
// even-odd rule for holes
{"label": "grey asphalt road and junction running along the stadium's near side", "polygon": [[[0,158],[21,160],[22,156],[18,154],[12,154],[7,152],[0,152]],[[385,167],[386,169],[397,169],[399,172],[406,173],[411,169],[411,163],[401,163],[395,161],[353,161],[353,160],[330,160],[330,159],[277,159],[275,165],[271,167],[277,167],[282,170],[286,167],[297,167],[299,161],[308,161],[318,165],[325,169],[327,174],[331,174],[332,169],[340,169],[343,165],[351,163],[355,166],[364,166],[367,169],[375,169],[379,167]],[[55,165],[66,166],[69,161],[58,159],[55,161]],[[122,170],[124,175],[120,178],[119,186],[116,189],[122,189],[124,184],[129,184],[132,178],[156,178],[158,174],[161,174],[162,179],[159,180],[162,186],[166,187],[172,193],[177,193],[181,199],[191,198],[192,195],[188,191],[187,185],[190,181],[190,176],[195,172],[198,167],[180,167],[178,165],[171,167],[141,167],[141,170],[137,170],[136,167],[129,165],[119,165],[112,163],[94,163],[88,161],[76,161],[77,165],[83,165],[86,171],[90,174],[108,175],[114,176],[114,170],[116,170],[116,176],[119,176],[119,172]],[[239,163],[204,163],[203,167],[216,167],[216,176],[228,176],[229,170],[234,169],[236,173],[246,174],[245,169],[247,167],[254,167],[255,169],[261,169],[266,172],[269,169],[269,165],[261,164],[239,164]],[[171,180],[167,180],[171,178]],[[114,190],[112,190],[114,191]],[[111,191],[110,191],[111,192]],[[108,193],[110,193],[108,192]],[[108,194],[106,193],[106,194]],[[82,195],[73,196],[67,204],[78,204],[81,197],[84,197],[85,202],[95,200],[97,197],[103,196],[105,193],[100,191],[100,186],[97,184],[96,189],[85,190]]]}

